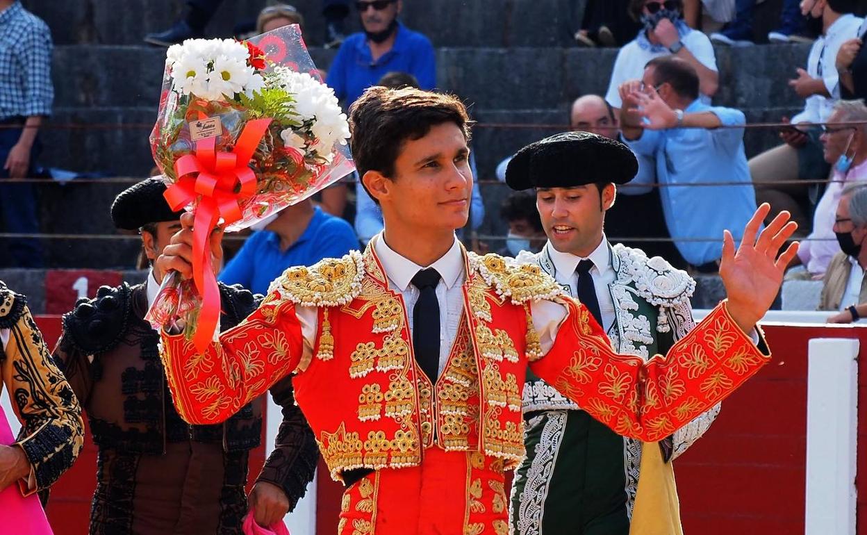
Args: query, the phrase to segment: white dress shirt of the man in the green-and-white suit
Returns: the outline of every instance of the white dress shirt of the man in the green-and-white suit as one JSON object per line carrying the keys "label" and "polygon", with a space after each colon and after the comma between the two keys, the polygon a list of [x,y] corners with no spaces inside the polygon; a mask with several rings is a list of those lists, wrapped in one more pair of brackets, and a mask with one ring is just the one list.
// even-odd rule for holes
{"label": "white dress shirt of the man in the green-and-white suit", "polygon": [[590,268],[590,277],[593,277],[593,286],[596,288],[596,299],[599,301],[599,311],[602,313],[602,328],[605,332],[611,328],[616,318],[614,300],[611,298],[609,285],[614,282],[617,274],[611,264],[611,251],[608,240],[604,234],[602,241],[587,258],[577,257],[569,252],[560,252],[549,241],[545,244],[548,256],[556,268],[555,278],[558,284],[569,285],[570,295],[578,295],[578,264],[585,259],[590,259],[593,267]]}

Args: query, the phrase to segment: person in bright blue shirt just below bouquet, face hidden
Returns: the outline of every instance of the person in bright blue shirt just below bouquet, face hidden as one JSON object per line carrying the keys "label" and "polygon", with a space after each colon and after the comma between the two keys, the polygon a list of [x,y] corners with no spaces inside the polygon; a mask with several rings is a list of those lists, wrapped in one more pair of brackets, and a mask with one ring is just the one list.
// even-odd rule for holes
{"label": "person in bright blue shirt just below bouquet, face hidden", "polygon": [[312,265],[323,258],[340,258],[358,248],[358,238],[346,221],[330,216],[310,199],[263,219],[244,246],[226,264],[218,280],[241,284],[254,293],[268,286],[287,268]]}

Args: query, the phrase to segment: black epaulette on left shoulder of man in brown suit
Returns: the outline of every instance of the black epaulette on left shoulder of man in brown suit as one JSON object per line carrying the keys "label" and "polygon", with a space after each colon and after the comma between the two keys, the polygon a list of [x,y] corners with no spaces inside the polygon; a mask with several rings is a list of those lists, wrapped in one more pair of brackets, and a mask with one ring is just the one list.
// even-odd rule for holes
{"label": "black epaulette on left shoulder of man in brown suit", "polygon": [[64,336],[85,355],[106,353],[127,335],[132,315],[129,284],[101,286],[95,298],[79,299],[75,309],[63,315]]}

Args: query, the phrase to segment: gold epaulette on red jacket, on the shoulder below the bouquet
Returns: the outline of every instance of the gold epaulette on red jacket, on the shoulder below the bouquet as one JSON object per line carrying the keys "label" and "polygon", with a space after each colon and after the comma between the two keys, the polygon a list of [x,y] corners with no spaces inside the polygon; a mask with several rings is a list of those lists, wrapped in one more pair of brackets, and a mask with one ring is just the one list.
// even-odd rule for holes
{"label": "gold epaulette on red jacket, on the shoulder below the bouquet", "polygon": [[339,306],[362,292],[364,261],[359,251],[342,258],[325,258],[310,266],[292,267],[271,283],[268,293],[303,306]]}

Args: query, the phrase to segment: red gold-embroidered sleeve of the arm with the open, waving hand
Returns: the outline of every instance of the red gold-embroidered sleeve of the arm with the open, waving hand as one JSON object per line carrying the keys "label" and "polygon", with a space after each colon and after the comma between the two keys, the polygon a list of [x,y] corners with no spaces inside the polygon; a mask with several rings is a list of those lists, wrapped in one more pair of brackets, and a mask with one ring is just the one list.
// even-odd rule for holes
{"label": "red gold-embroidered sleeve of the arm with the open, waving hand", "polygon": [[616,433],[662,440],[714,407],[771,358],[733,322],[720,303],[668,350],[643,362],[618,355],[583,305],[570,314],[554,347],[531,370]]}

